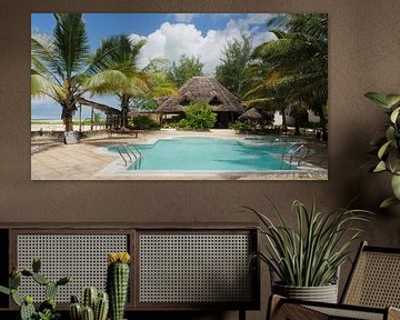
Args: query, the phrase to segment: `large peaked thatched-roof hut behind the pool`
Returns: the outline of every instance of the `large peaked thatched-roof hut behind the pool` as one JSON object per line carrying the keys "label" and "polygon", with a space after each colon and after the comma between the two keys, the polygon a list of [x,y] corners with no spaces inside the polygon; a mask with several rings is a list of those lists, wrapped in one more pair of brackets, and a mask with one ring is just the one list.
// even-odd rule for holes
{"label": "large peaked thatched-roof hut behind the pool", "polygon": [[178,94],[162,101],[157,109],[162,114],[183,113],[190,102],[203,101],[217,113],[217,127],[228,128],[244,110],[242,102],[214,78],[193,77],[179,90]]}

